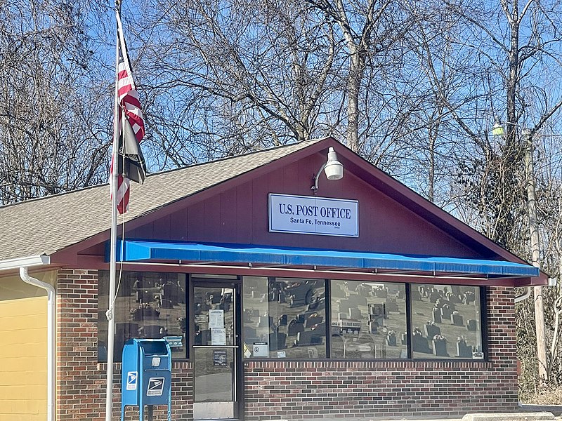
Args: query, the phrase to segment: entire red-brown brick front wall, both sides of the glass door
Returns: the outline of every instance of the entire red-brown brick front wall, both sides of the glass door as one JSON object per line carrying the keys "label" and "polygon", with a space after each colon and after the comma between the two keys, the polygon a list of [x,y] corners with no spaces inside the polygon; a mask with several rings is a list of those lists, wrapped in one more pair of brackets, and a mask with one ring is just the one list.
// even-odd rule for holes
{"label": "entire red-brown brick front wall, both sides of the glass door", "polygon": [[[246,361],[246,420],[459,416],[517,409],[511,288],[488,288],[489,361]],[[97,271],[60,270],[57,285],[57,420],[105,420],[105,370],[97,361]],[[100,309],[100,316],[103,310]],[[115,364],[119,419],[121,364]],[[173,363],[173,420],[190,420],[193,368]],[[158,407],[155,419],[163,420]],[[138,420],[129,408],[127,419]]]}

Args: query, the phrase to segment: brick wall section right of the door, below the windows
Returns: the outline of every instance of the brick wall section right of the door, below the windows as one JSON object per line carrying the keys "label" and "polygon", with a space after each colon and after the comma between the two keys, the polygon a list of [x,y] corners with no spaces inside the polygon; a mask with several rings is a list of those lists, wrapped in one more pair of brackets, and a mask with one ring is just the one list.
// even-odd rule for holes
{"label": "brick wall section right of the door, below the windows", "polygon": [[489,288],[489,361],[247,361],[246,420],[518,409],[512,288]]}

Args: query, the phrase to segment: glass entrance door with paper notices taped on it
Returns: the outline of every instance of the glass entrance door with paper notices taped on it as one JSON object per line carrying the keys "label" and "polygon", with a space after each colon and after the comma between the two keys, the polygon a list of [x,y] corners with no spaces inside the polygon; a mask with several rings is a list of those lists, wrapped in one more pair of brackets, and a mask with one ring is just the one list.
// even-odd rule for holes
{"label": "glass entrance door with paper notices taped on it", "polygon": [[195,420],[240,417],[240,293],[237,283],[193,283]]}

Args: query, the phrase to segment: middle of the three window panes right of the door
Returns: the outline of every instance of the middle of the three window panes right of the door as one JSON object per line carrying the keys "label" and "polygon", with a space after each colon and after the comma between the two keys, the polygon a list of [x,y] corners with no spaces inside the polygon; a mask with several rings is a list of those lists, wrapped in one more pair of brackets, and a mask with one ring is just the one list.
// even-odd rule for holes
{"label": "middle of the three window panes right of the door", "polygon": [[407,358],[404,283],[331,281],[332,358]]}

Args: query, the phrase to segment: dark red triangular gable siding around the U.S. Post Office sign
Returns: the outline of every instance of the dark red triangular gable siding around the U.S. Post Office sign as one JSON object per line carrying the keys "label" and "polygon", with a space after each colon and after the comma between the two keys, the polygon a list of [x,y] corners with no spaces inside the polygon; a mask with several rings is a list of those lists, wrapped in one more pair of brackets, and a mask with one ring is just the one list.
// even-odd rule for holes
{"label": "dark red triangular gable siding around the U.S. Post Office sign", "polygon": [[268,232],[268,193],[313,196],[313,175],[324,160],[323,154],[301,159],[133,229],[128,237],[481,257],[350,171],[338,181],[328,181],[322,174],[318,196],[359,201],[358,239]]}

